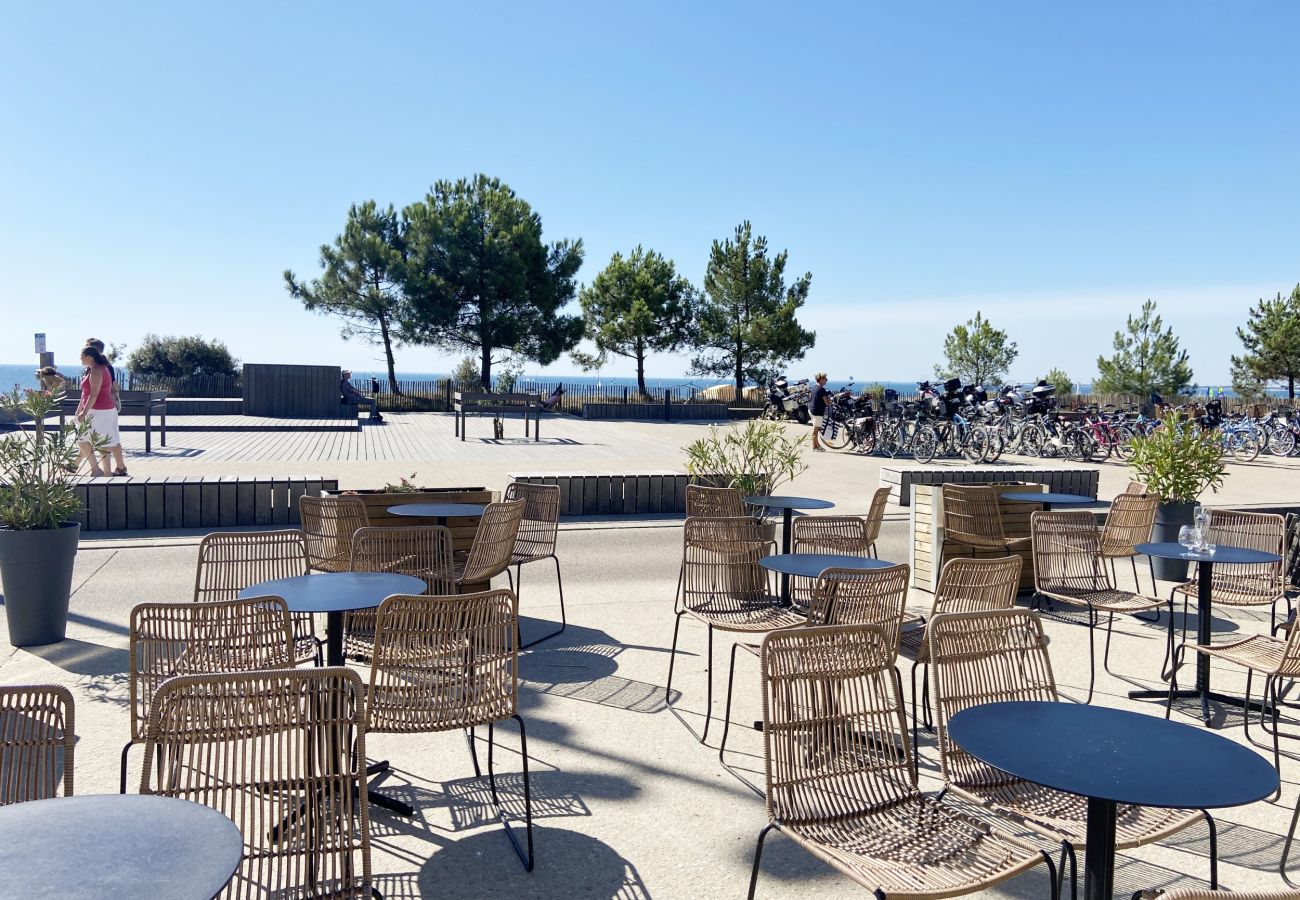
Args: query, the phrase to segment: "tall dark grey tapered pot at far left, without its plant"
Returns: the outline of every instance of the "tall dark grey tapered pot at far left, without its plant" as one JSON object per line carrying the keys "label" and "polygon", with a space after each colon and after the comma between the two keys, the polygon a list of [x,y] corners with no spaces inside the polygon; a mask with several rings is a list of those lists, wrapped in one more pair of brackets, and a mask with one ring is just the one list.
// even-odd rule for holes
{"label": "tall dark grey tapered pot at far left, without its plant", "polygon": [[0,590],[14,646],[57,644],[68,632],[68,598],[81,525],[0,528]]}

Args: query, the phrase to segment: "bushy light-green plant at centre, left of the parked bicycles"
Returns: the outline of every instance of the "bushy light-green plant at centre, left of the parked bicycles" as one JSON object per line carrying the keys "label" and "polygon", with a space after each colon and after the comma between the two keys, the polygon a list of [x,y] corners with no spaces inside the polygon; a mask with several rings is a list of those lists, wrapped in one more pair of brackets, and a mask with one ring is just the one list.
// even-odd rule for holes
{"label": "bushy light-green plant at centre, left of the parked bicycles", "polygon": [[[750,419],[744,425],[719,429],[708,427],[708,437],[682,447],[686,454],[686,473],[696,481],[714,486],[736,488],[742,497],[775,494],[776,489],[797,477],[807,464],[803,462],[806,438],[794,440],[779,421]],[[767,510],[755,515],[766,519]],[[771,523],[770,537],[776,524]]]}

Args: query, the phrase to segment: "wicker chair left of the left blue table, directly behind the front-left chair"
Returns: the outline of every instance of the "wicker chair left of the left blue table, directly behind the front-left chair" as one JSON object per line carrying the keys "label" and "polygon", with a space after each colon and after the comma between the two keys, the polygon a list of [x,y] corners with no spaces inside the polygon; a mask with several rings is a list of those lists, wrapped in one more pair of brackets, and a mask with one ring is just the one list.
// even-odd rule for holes
{"label": "wicker chair left of the left blue table, directly behind the front-left chair", "polygon": [[130,619],[131,739],[122,748],[126,793],[131,747],[146,737],[153,696],[178,675],[216,675],[294,665],[292,624],[280,597],[205,603],[138,603]]}

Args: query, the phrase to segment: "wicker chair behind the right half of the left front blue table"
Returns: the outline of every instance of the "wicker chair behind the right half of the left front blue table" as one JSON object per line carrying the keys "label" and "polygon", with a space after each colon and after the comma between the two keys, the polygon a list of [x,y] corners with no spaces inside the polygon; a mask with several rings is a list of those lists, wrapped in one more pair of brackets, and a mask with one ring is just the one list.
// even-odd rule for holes
{"label": "wicker chair behind the right half of the left front blue table", "polygon": [[[456,593],[451,532],[442,525],[359,528],[352,536],[354,572],[396,572],[422,579],[426,594]],[[343,615],[343,652],[369,659],[374,648],[374,610]]]}

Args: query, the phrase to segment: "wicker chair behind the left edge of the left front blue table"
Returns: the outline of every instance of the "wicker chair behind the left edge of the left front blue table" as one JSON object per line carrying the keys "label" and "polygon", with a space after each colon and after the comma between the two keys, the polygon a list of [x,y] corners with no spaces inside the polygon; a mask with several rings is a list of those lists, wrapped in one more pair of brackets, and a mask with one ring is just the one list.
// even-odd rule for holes
{"label": "wicker chair behind the left edge of the left front blue table", "polygon": [[[307,537],[295,529],[213,532],[199,542],[194,600],[237,600],[252,584],[307,575]],[[321,665],[321,641],[309,613],[294,614],[294,662]]]}

